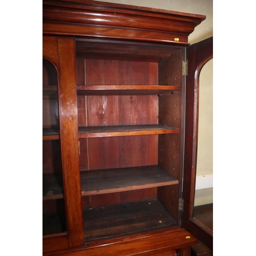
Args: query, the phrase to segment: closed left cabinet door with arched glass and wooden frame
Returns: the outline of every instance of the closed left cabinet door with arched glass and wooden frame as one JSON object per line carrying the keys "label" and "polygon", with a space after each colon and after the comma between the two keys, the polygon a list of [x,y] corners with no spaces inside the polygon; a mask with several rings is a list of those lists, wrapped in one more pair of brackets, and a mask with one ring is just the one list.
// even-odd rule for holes
{"label": "closed left cabinet door with arched glass and wooden frame", "polygon": [[83,245],[74,39],[44,36],[42,69],[42,234],[48,252]]}

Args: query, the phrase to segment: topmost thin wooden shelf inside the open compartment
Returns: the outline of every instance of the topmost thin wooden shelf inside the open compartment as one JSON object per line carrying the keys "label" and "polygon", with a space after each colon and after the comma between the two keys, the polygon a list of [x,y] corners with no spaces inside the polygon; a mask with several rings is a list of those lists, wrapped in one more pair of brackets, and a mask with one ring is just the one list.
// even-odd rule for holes
{"label": "topmost thin wooden shelf inside the open compartment", "polygon": [[180,91],[180,86],[145,86],[145,85],[123,85],[123,86],[101,86],[101,85],[79,85],[77,95],[159,95],[170,94]]}

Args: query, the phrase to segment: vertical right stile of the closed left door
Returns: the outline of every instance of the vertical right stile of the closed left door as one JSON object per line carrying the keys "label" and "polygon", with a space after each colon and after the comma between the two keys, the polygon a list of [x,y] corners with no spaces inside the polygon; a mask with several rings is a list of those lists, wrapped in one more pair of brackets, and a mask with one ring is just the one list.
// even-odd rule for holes
{"label": "vertical right stile of the closed left door", "polygon": [[83,245],[83,218],[79,168],[75,39],[58,37],[60,63],[59,117],[64,198],[69,247]]}

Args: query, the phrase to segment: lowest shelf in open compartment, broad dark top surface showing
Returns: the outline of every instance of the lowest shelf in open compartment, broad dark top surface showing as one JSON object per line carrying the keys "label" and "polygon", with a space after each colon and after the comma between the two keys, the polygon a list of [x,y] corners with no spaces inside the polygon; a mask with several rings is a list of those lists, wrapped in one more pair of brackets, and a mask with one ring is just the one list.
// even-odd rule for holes
{"label": "lowest shelf in open compartment, broad dark top surface showing", "polygon": [[82,196],[178,184],[158,165],[81,172]]}

